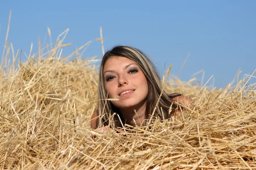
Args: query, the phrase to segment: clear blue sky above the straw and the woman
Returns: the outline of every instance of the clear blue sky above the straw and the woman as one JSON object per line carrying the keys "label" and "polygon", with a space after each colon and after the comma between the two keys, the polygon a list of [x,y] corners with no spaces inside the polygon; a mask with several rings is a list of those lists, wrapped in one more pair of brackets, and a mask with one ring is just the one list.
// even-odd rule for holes
{"label": "clear blue sky above the straw and the woman", "polygon": [[[139,48],[151,57],[160,74],[165,64],[166,69],[172,64],[171,74],[177,74],[191,52],[179,78],[187,81],[204,69],[204,83],[214,74],[215,86],[222,88],[239,68],[241,75],[256,69],[255,7],[256,0],[2,0],[0,52],[12,9],[9,42],[15,51],[19,48],[29,54],[33,42],[36,52],[38,36],[43,41],[47,27],[52,40],[70,28],[65,42],[72,46],[63,51],[67,55],[76,46],[99,38],[102,26],[105,50],[114,45]],[[99,41],[83,57],[94,55],[102,57]]]}

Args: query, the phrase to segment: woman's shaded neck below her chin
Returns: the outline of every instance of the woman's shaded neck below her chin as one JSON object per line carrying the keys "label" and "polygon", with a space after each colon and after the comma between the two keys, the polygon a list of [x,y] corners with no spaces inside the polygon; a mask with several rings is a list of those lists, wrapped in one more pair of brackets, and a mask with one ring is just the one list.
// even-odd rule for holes
{"label": "woman's shaded neck below her chin", "polygon": [[[125,123],[131,126],[143,124],[145,119],[146,102],[141,106],[135,106],[132,108],[119,108],[122,118]],[[134,110],[136,112],[134,112]]]}

